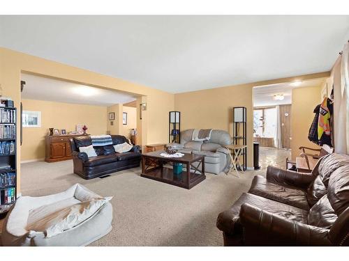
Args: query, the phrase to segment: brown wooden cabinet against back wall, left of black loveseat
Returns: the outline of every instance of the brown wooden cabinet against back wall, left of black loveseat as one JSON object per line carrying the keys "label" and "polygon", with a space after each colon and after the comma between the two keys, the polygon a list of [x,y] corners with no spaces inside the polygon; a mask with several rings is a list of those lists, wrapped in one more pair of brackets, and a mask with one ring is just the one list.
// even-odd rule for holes
{"label": "brown wooden cabinet against back wall, left of black loveseat", "polygon": [[46,136],[45,161],[54,162],[72,159],[73,155],[70,148],[70,139],[78,136],[82,135]]}

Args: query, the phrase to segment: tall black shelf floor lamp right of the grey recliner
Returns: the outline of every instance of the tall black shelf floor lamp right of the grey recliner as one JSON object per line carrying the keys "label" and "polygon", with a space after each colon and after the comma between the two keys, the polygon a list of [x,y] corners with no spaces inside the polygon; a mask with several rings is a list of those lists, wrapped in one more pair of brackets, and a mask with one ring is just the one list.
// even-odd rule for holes
{"label": "tall black shelf floor lamp right of the grey recliner", "polygon": [[[232,144],[247,145],[246,107],[232,108]],[[247,147],[242,151],[242,168],[247,168]]]}

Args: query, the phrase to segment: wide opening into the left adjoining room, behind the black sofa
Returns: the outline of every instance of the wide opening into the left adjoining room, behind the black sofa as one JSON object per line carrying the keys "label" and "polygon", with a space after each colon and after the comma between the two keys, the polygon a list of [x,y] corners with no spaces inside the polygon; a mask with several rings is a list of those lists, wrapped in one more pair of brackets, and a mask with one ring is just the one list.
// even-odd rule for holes
{"label": "wide opening into the left adjoining room, behind the black sofa", "polygon": [[[117,134],[137,143],[136,104],[142,96],[61,79],[21,74],[22,193],[40,196],[37,187],[84,183],[73,173],[70,139]],[[38,194],[39,193],[39,194]]]}

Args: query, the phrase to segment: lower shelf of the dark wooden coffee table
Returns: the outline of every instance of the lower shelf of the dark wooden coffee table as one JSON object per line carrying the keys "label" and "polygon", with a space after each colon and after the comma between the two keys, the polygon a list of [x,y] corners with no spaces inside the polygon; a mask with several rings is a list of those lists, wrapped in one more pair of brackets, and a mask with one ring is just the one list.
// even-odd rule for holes
{"label": "lower shelf of the dark wooden coffee table", "polygon": [[147,177],[151,180],[156,180],[158,182],[164,182],[168,184],[172,184],[177,187],[182,187],[184,189],[191,189],[195,185],[205,180],[206,176],[201,173],[190,173],[189,182],[187,180],[186,171],[182,171],[180,174],[174,174],[172,168],[167,167],[155,167],[146,171],[146,173],[142,173],[141,177]]}

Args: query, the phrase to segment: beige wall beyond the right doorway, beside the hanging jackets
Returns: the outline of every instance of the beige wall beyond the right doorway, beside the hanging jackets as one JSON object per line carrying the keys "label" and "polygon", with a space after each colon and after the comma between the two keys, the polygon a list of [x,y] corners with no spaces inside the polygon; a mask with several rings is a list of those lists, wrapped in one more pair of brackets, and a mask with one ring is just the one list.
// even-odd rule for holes
{"label": "beige wall beyond the right doorway, beside the hanging jackets", "polygon": [[299,147],[319,148],[308,139],[309,127],[315,114],[313,110],[321,102],[322,86],[295,88],[292,90],[291,128],[292,159],[295,160],[300,153]]}

